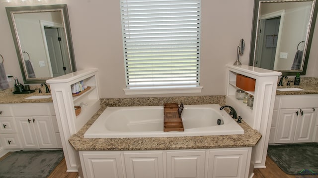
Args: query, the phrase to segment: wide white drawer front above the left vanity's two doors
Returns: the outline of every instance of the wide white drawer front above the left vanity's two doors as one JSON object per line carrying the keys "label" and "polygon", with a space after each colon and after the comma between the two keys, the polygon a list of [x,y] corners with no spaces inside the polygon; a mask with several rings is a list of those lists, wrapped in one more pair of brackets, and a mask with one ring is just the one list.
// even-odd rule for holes
{"label": "wide white drawer front above the left vanity's two doors", "polygon": [[14,116],[47,116],[50,115],[49,105],[46,103],[14,104]]}

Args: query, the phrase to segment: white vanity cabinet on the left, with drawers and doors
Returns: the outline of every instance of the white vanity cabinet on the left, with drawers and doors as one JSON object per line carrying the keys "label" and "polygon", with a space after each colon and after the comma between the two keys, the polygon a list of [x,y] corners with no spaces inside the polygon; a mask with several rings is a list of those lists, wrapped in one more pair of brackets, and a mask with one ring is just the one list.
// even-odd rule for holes
{"label": "white vanity cabinet on the left, with drawers and doors", "polygon": [[7,149],[61,148],[53,103],[1,104],[0,139]]}

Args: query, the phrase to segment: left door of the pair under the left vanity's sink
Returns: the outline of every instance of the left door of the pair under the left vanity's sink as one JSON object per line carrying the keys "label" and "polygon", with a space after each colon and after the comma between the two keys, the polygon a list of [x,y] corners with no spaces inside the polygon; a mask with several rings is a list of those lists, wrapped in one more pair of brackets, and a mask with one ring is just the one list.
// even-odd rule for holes
{"label": "left door of the pair under the left vanity's sink", "polygon": [[32,123],[32,117],[16,117],[15,120],[19,128],[18,131],[22,148],[39,148]]}

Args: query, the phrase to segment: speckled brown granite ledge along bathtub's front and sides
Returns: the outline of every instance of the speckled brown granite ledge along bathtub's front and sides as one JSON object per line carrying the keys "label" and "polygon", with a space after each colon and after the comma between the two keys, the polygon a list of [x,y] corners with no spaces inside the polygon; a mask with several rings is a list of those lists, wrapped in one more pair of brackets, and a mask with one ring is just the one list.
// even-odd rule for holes
{"label": "speckled brown granite ledge along bathtub's front and sides", "polygon": [[[105,108],[104,108],[105,109]],[[239,125],[244,134],[214,136],[143,137],[143,138],[83,138],[83,134],[94,123],[104,109],[97,113],[69,138],[72,146],[79,151],[101,150],[174,150],[208,149],[255,146],[261,134],[245,122]]]}

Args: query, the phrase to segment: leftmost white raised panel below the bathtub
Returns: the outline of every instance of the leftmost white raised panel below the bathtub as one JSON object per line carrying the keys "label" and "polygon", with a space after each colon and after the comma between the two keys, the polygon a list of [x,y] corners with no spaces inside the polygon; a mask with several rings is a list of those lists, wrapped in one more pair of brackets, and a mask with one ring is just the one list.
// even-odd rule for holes
{"label": "leftmost white raised panel below the bathtub", "polygon": [[124,178],[120,153],[83,153],[82,158],[84,178]]}

